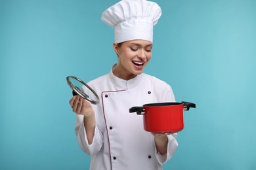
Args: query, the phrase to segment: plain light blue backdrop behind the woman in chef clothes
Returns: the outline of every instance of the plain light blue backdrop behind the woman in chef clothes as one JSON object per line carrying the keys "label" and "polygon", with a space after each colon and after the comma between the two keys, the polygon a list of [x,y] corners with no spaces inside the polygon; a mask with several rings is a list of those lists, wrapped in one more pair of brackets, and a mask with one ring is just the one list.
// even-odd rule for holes
{"label": "plain light blue backdrop behind the woman in chef clothes", "polygon": [[[116,63],[100,20],[115,0],[0,0],[0,169],[89,169],[77,146],[66,76]],[[145,73],[170,84],[185,114],[165,169],[256,169],[256,1],[156,1]],[[138,160],[139,161],[139,160]]]}

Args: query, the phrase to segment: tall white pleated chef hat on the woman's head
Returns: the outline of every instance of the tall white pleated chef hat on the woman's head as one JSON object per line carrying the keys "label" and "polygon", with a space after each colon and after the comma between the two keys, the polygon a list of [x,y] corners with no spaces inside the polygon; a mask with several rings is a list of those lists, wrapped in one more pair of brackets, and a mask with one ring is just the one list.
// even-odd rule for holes
{"label": "tall white pleated chef hat on the woman's head", "polygon": [[161,8],[146,0],[122,0],[105,10],[101,20],[114,27],[117,43],[142,39],[153,42],[153,26],[158,23]]}

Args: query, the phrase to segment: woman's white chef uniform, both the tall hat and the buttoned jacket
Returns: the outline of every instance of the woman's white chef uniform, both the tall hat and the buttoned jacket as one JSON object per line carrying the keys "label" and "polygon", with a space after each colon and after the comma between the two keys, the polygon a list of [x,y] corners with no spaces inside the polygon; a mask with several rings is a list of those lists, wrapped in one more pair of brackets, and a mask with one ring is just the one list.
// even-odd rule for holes
{"label": "woman's white chef uniform, both the tall hat and the buttoned jacket", "polygon": [[[153,25],[161,16],[160,7],[145,0],[123,0],[102,14],[102,21],[115,28],[117,43],[133,39],[152,42]],[[138,33],[139,31],[139,33]],[[144,73],[130,80],[109,74],[89,82],[100,97],[95,111],[96,127],[89,144],[83,115],[77,115],[75,133],[79,147],[91,155],[91,170],[158,170],[170,160],[178,143],[177,133],[168,135],[167,154],[156,150],[154,136],[144,130],[143,116],[129,113],[129,108],[147,103],[173,102],[171,86]]]}

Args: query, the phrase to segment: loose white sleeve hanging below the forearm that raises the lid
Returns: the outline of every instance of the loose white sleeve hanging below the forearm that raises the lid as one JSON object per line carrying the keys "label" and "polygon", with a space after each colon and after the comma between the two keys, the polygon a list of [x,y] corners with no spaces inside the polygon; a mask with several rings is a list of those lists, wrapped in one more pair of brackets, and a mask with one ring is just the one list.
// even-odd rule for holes
{"label": "loose white sleeve hanging below the forearm that raises the lid", "polygon": [[79,147],[86,154],[93,156],[102,148],[103,135],[98,129],[98,126],[95,127],[95,136],[93,138],[93,143],[88,144],[85,127],[83,125],[83,115],[76,115],[75,135],[77,136],[77,142]]}

